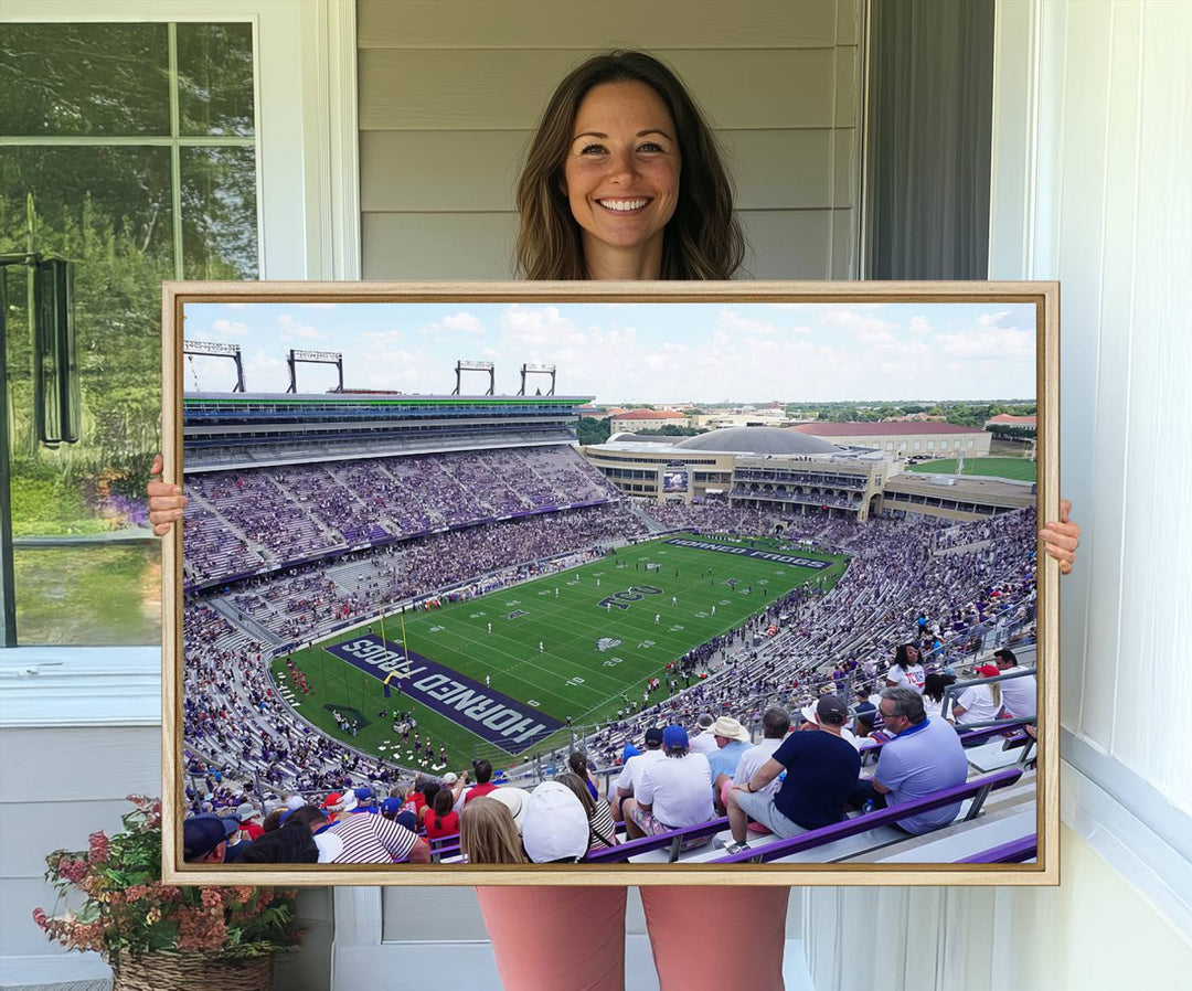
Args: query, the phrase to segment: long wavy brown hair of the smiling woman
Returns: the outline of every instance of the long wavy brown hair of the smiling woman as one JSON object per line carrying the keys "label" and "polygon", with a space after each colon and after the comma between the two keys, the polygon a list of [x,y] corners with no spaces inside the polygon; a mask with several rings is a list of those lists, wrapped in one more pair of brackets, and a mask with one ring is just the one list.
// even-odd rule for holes
{"label": "long wavy brown hair of the smiling woman", "polygon": [[679,147],[678,202],[663,235],[663,279],[730,279],[745,258],[733,190],[703,113],[671,69],[644,51],[609,51],[573,69],[551,97],[517,182],[516,271],[526,279],[588,278],[563,163],[579,104],[603,82],[642,82],[670,111]]}

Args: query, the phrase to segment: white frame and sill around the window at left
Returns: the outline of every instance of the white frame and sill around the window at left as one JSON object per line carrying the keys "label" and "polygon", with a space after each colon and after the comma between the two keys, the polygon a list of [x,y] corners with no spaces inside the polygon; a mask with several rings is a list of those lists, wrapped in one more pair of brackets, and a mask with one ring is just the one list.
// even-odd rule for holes
{"label": "white frame and sill around the window at left", "polygon": [[[359,279],[355,4],[4,0],[5,23],[253,25],[262,279]],[[0,726],[161,723],[156,646],[0,649]]]}

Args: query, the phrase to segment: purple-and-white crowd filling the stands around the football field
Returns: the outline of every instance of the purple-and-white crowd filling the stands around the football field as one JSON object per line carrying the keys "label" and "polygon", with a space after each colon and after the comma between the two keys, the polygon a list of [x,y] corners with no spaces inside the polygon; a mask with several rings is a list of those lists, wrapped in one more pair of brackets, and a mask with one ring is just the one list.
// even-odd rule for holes
{"label": "purple-and-white crowd filling the stands around the football field", "polygon": [[[224,478],[222,484],[236,488],[240,494],[246,488],[249,490],[247,502],[253,508],[237,519],[250,521],[256,528],[237,528],[246,535],[252,532],[252,543],[262,549],[257,558],[263,559],[268,555],[306,553],[318,544],[312,532],[329,532],[329,521],[335,514],[342,522],[342,526],[336,525],[340,538],[347,538],[353,527],[359,535],[364,520],[379,519],[368,512],[360,516],[348,513],[348,507],[355,507],[352,501],[355,497],[349,498],[347,493],[361,488],[375,488],[386,494],[389,515],[384,516],[386,522],[381,526],[387,527],[387,534],[401,529],[389,526],[398,513],[404,514],[402,526],[409,525],[409,528],[423,527],[427,520],[443,525],[448,520],[470,519],[466,513],[457,513],[462,504],[462,494],[468,493],[477,496],[484,494],[483,498],[474,498],[471,504],[483,506],[489,515],[520,512],[510,509],[510,493],[515,491],[519,498],[529,500],[538,507],[548,504],[551,498],[558,504],[569,504],[592,495],[608,495],[602,478],[582,469],[581,484],[569,459],[557,458],[552,451],[554,448],[521,452],[523,457],[519,463],[529,466],[527,471],[532,477],[509,476],[504,472],[504,459],[486,462],[486,458],[495,458],[493,452],[423,459],[437,488],[435,495],[432,495],[432,489],[426,489],[421,501],[402,495],[418,484],[410,481],[414,478],[411,459],[386,459],[392,463],[383,467],[374,460],[319,469],[324,472],[322,477],[330,481],[318,484],[316,479],[319,476],[311,466],[259,471],[248,482],[241,479],[243,484],[229,478]],[[519,482],[513,487],[504,483],[493,485],[493,479],[498,477],[507,481],[515,477]],[[273,487],[272,491],[268,487]],[[284,498],[279,496],[283,487],[286,493]],[[209,476],[204,491],[218,502],[215,494],[223,490]],[[272,502],[266,504],[269,500]],[[287,522],[290,543],[283,544],[275,537],[257,540],[268,529],[269,512],[281,512],[275,508],[281,504],[279,500],[310,503],[302,519],[317,521],[315,531],[294,528]],[[318,506],[317,512],[315,504]],[[194,528],[205,534],[198,539],[199,543],[192,544],[188,529],[187,552],[198,546],[204,556],[209,551],[218,553],[223,544],[210,520],[225,518],[216,518],[212,510],[203,507],[198,507],[193,516],[191,510],[187,515],[188,526],[193,519]],[[389,541],[377,549],[337,553],[309,564],[277,569],[268,575],[187,597],[184,623],[184,735],[188,761],[187,794],[192,807],[204,815],[218,816],[222,812],[219,817],[229,820],[230,830],[230,820],[237,815],[231,810],[243,812],[242,806],[254,797],[260,805],[262,797],[273,795],[272,803],[279,806],[285,804],[297,816],[293,822],[316,840],[324,832],[353,832],[355,828],[347,830],[346,826],[319,830],[328,824],[328,816],[333,823],[337,817],[347,822],[343,818],[347,816],[355,820],[360,809],[365,809],[386,822],[396,823],[396,826],[381,829],[381,840],[373,836],[375,830],[370,830],[366,838],[348,836],[342,846],[333,841],[323,841],[322,846],[316,843],[319,857],[334,860],[342,856],[344,849],[350,851],[349,856],[364,856],[361,850],[366,848],[367,856],[375,857],[366,862],[422,857],[424,851],[417,843],[424,843],[424,840],[418,835],[429,835],[430,831],[427,830],[426,817],[420,815],[420,807],[433,810],[433,795],[428,800],[423,794],[420,805],[418,799],[411,799],[410,794],[422,794],[420,788],[424,788],[428,781],[420,778],[406,783],[414,769],[366,756],[306,724],[293,707],[278,698],[268,670],[268,661],[275,649],[317,638],[353,619],[373,615],[380,607],[395,602],[430,593],[465,597],[484,594],[534,577],[547,569],[575,566],[592,553],[602,553],[603,545],[640,539],[651,531],[678,528],[741,539],[774,534],[781,528],[782,539],[787,541],[784,546],[844,552],[850,556],[850,564],[831,590],[806,586],[768,602],[764,609],[737,628],[679,658],[666,673],[665,680],[658,682],[657,690],[647,692],[641,702],[627,698],[616,720],[581,736],[581,751],[601,767],[623,768],[627,756],[634,756],[633,750],[645,748],[645,741],[654,739],[658,736],[656,731],[665,726],[684,727],[699,751],[715,736],[709,731],[716,716],[739,720],[743,730],[738,732],[763,732],[759,745],[768,747],[772,752],[781,741],[765,735],[770,710],[783,707],[784,711],[801,711],[806,716],[818,700],[831,696],[845,700],[850,719],[858,705],[870,712],[876,711],[880,702],[876,693],[893,683],[889,665],[894,649],[900,644],[908,640],[917,643],[924,669],[932,676],[946,677],[955,674],[957,659],[968,659],[967,652],[983,627],[999,619],[1022,627],[1033,619],[1035,514],[1031,510],[971,524],[874,519],[857,525],[821,514],[783,518],[766,510],[741,509],[724,497],[691,506],[677,502],[631,504],[628,500],[610,498],[603,504],[583,509],[546,512],[399,543]],[[327,545],[319,546],[325,549]],[[246,544],[246,553],[257,552]],[[250,623],[246,618],[250,618]],[[1001,668],[1000,664],[998,667]],[[300,671],[291,674],[302,675]],[[298,676],[292,681],[299,688],[304,683],[304,679]],[[923,687],[920,680],[915,688],[921,690]],[[988,704],[981,693],[969,694],[967,701],[971,711],[979,713],[983,713]],[[979,705],[973,705],[974,701]],[[874,719],[869,721],[871,724]],[[853,724],[862,735],[868,725]],[[701,737],[704,737],[702,744],[697,743]],[[678,737],[672,733],[672,738]],[[877,742],[881,738],[880,731],[875,733]],[[744,739],[738,737],[737,742],[744,743]],[[583,775],[576,775],[573,769],[563,768],[563,754],[552,756],[553,760],[548,757],[546,764],[548,775],[558,774],[561,779],[571,774],[583,780]],[[440,752],[439,767],[442,764]],[[620,774],[625,778],[623,770]],[[462,774],[446,776],[455,779],[452,785],[466,780]],[[702,780],[702,769],[700,776]],[[714,783],[720,778],[716,775],[710,780]],[[368,785],[360,786],[361,781]],[[384,803],[372,807],[367,798],[360,799],[359,809],[336,807],[354,804],[344,798],[349,793],[356,794],[354,783],[361,794],[389,792],[389,799],[401,799],[397,805],[390,801],[387,806],[393,815],[386,819],[381,815]],[[603,798],[590,795],[589,789],[594,791],[591,780],[583,788],[572,787],[576,781],[551,782],[559,787],[548,788],[541,795],[538,791],[530,793],[516,785],[496,788],[492,781],[483,783],[492,786],[484,789],[491,791],[491,794],[482,791],[474,795],[476,800],[479,803],[484,797],[497,809],[489,807],[489,803],[477,806],[485,810],[485,815],[472,817],[473,848],[504,850],[501,856],[524,860],[535,859],[530,855],[532,849],[538,856],[557,853],[558,856],[547,857],[551,860],[583,856],[583,851],[564,849],[565,843],[560,847],[557,838],[544,840],[541,844],[534,838],[527,843],[522,820],[527,810],[539,806],[551,809],[560,822],[570,818],[578,823],[578,806],[583,822],[592,826],[591,830],[585,826],[586,837],[600,832],[592,825],[597,818],[603,824],[600,810],[609,812],[611,800],[613,811],[621,822],[623,816],[617,799],[632,797],[620,795],[617,788],[610,788],[611,793]],[[757,783],[760,788],[762,782]],[[735,810],[739,816],[739,803],[724,786],[722,779],[715,791],[709,785],[709,810],[718,815],[728,812],[730,816]],[[578,794],[581,791],[589,795],[590,801],[584,801]],[[472,792],[474,788],[467,794]],[[648,788],[646,794],[651,794]],[[283,801],[283,795],[287,797],[287,801]],[[311,797],[317,800],[308,801]],[[336,800],[331,801],[331,797]],[[571,805],[572,800],[577,806]],[[409,812],[411,801],[418,806],[414,810],[415,820],[411,824],[406,817],[402,826],[395,817],[399,812]],[[445,801],[442,799],[440,806]],[[867,793],[864,801],[871,804],[873,794]],[[647,806],[645,812],[641,811],[642,804]],[[648,835],[659,823],[678,825],[664,816],[653,815],[657,809],[652,812],[648,806],[650,801],[637,801],[635,807],[629,805],[631,835]],[[559,811],[563,809],[567,812]],[[274,811],[279,819],[280,810],[268,807],[257,809],[257,818],[260,813]],[[442,807],[437,816],[432,811],[432,822],[440,826],[437,836],[432,838],[447,835],[439,818],[455,825],[457,820],[449,818],[452,815],[460,817],[459,829],[467,835],[468,817],[461,816],[462,812],[464,793],[457,794],[451,809]],[[514,834],[505,829],[507,816],[514,820]],[[277,824],[275,820],[271,825]],[[397,829],[404,829],[416,842],[409,842],[410,837],[398,834]],[[252,834],[253,830],[242,830],[236,835],[242,832]],[[532,826],[532,836],[538,837],[540,832]],[[734,829],[734,846],[737,832],[739,830]],[[542,835],[547,834],[554,835],[551,830]],[[207,838],[213,835],[215,830],[210,828],[204,834]],[[511,836],[516,836],[517,842],[513,842]],[[242,844],[243,841],[232,843],[232,847]],[[303,856],[311,855],[312,847],[305,842],[297,842],[297,846],[290,843],[284,849],[290,856],[299,847]],[[278,847],[278,850],[281,849]],[[278,850],[269,855],[280,856]],[[263,857],[265,853],[260,856]],[[459,853],[458,856],[467,854]]]}

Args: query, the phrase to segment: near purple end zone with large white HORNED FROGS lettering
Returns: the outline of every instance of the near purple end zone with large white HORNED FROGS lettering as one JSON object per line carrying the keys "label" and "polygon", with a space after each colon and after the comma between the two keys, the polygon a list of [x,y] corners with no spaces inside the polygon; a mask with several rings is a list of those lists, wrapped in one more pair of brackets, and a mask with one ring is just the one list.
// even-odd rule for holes
{"label": "near purple end zone with large white HORNED FROGS lettering", "polygon": [[563,727],[560,720],[485,688],[428,657],[412,651],[406,656],[401,644],[383,640],[375,633],[364,633],[324,649],[380,682],[390,679],[390,687],[399,687],[402,694],[507,754],[520,754]]}

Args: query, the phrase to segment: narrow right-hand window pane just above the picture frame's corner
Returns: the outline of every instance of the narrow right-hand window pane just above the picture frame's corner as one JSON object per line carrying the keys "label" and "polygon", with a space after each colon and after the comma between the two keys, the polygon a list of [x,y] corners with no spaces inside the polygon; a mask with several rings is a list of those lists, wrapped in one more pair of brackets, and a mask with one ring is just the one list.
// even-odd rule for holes
{"label": "narrow right-hand window pane just above the picture frame's corner", "polygon": [[255,279],[256,153],[182,148],[182,277]]}

